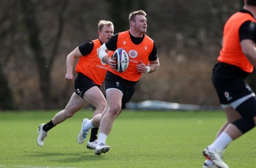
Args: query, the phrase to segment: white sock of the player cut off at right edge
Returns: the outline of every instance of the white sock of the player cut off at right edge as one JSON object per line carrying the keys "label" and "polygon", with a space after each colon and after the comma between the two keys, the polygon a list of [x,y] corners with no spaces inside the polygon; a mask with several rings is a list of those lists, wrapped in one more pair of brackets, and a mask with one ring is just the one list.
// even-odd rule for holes
{"label": "white sock of the player cut off at right edge", "polygon": [[210,146],[208,146],[208,149],[215,151],[218,148],[223,151],[232,141],[232,138],[228,136],[226,132],[222,132],[220,136],[218,136],[217,139]]}

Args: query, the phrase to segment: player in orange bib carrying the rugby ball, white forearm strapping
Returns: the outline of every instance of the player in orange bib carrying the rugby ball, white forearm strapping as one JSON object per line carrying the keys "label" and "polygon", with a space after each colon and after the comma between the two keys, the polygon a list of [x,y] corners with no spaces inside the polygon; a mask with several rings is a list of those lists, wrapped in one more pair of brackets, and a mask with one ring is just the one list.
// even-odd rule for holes
{"label": "player in orange bib carrying the rugby ball, white forearm strapping", "polygon": [[[100,126],[96,155],[109,151],[110,146],[106,145],[108,134],[113,122],[134,94],[141,74],[154,73],[159,67],[156,43],[145,34],[146,16],[143,10],[133,11],[129,15],[129,31],[115,34],[107,43],[100,46],[99,58],[111,66],[105,78],[107,104],[102,115],[97,115],[92,120],[84,119],[83,129],[78,135],[78,139],[84,141],[89,129]],[[115,71],[116,62],[107,54],[109,50],[115,51],[117,48],[123,48],[129,54],[129,66],[123,73]]]}

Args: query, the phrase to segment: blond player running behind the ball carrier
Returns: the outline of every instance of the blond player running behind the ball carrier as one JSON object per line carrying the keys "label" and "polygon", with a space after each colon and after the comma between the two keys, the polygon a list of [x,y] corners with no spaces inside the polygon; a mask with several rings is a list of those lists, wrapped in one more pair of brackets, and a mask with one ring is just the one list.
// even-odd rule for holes
{"label": "blond player running behind the ball carrier", "polygon": [[[76,64],[77,77],[75,80],[75,92],[70,97],[65,109],[58,112],[51,121],[42,123],[39,126],[39,136],[37,138],[38,146],[44,145],[47,132],[54,126],[64,122],[67,118],[72,117],[77,111],[84,108],[89,103],[95,108],[93,116],[102,113],[106,106],[106,99],[99,87],[102,85],[109,65],[103,63],[98,55],[97,50],[103,43],[106,43],[113,36],[114,25],[110,21],[100,20],[98,24],[99,38],[77,46],[75,50],[67,55],[67,81],[73,81],[74,76],[72,67],[74,60],[79,59]],[[109,52],[111,57],[113,52]],[[95,149],[97,145],[97,132],[99,128],[92,129],[90,140],[87,143],[87,148]]]}

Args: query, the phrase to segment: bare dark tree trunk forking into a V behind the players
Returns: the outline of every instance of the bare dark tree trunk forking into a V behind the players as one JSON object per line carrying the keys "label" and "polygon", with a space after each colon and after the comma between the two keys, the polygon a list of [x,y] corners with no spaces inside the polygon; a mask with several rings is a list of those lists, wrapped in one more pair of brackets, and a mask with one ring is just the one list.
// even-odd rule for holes
{"label": "bare dark tree trunk forking into a V behind the players", "polygon": [[56,58],[58,46],[60,44],[61,35],[64,26],[65,10],[68,6],[68,1],[60,1],[61,7],[58,13],[58,31],[53,43],[52,53],[49,58],[46,56],[44,46],[39,39],[41,34],[39,20],[36,17],[36,5],[31,0],[21,0],[22,13],[24,14],[24,22],[29,37],[29,45],[35,58],[36,67],[40,79],[40,92],[42,92],[42,101],[44,102],[44,108],[51,108],[51,69]]}

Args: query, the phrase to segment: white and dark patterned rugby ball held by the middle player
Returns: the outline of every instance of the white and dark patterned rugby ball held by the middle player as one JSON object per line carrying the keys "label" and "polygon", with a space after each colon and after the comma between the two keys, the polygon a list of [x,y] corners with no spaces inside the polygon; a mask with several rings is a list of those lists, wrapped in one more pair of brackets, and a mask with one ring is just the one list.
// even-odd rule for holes
{"label": "white and dark patterned rugby ball held by the middle player", "polygon": [[119,73],[124,72],[129,66],[129,56],[122,48],[117,48],[112,56],[112,60],[116,62],[116,71]]}

